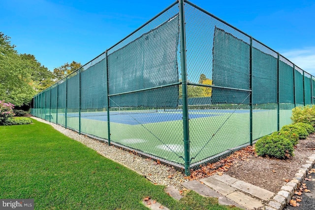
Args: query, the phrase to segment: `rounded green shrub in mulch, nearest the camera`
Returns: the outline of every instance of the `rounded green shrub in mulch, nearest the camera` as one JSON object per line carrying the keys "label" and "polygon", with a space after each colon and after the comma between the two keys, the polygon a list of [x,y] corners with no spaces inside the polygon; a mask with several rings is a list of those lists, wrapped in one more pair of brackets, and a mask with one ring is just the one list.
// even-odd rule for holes
{"label": "rounded green shrub in mulch, nearest the camera", "polygon": [[259,156],[288,158],[293,156],[293,144],[284,135],[270,135],[260,138],[255,144]]}

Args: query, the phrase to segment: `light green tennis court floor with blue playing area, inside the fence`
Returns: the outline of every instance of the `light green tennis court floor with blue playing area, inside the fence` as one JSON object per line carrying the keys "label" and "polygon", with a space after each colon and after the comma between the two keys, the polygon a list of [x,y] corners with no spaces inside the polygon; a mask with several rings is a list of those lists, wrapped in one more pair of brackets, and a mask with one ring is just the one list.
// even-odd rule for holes
{"label": "light green tennis court floor with blue playing area, inside the fence", "polygon": [[[194,118],[189,117],[191,163],[249,144],[249,110],[189,111],[189,116],[197,115]],[[70,113],[70,116],[71,114],[77,115]],[[108,139],[107,116],[104,113],[96,114],[91,113],[92,117],[81,117],[81,132]],[[111,116],[111,120],[119,121],[110,122],[111,142],[184,164],[183,121],[178,119],[178,115],[179,112],[167,112],[162,117],[148,113],[143,118],[159,121],[143,123],[126,121],[134,118],[130,114]],[[280,127],[291,123],[290,116],[291,110],[280,110]],[[59,120],[64,123],[64,113],[58,114],[58,123]],[[67,117],[67,127],[79,130],[78,121],[78,117]],[[253,110],[252,123],[253,140],[276,131],[277,110]]]}

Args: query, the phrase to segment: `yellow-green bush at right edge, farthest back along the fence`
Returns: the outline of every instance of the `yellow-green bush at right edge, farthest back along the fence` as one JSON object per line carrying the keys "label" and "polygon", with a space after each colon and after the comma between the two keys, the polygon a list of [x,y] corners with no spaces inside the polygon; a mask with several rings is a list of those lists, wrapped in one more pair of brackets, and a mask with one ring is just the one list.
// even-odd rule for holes
{"label": "yellow-green bush at right edge, farthest back along the fence", "polygon": [[315,105],[295,107],[292,109],[291,120],[293,123],[304,122],[311,125],[315,125]]}

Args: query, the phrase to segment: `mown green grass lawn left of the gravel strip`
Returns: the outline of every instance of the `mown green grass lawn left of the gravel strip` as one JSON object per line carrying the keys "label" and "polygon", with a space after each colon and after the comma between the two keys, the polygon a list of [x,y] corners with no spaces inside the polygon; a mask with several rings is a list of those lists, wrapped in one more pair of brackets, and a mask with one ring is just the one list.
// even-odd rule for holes
{"label": "mown green grass lawn left of the gravel strip", "polygon": [[0,126],[0,145],[0,198],[34,199],[36,210],[142,210],[147,196],[171,210],[231,209],[194,192],[175,201],[164,186],[36,120]]}

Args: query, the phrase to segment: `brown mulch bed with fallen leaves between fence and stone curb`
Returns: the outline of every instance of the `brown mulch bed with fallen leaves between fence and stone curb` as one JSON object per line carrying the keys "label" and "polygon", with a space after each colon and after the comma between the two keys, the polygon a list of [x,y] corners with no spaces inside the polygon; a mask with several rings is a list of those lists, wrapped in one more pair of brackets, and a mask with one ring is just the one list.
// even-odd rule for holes
{"label": "brown mulch bed with fallen leaves between fence and stone curb", "polygon": [[276,159],[257,156],[254,147],[246,147],[219,162],[208,164],[192,171],[190,180],[209,177],[215,173],[225,173],[231,177],[277,193],[285,182],[295,177],[301,165],[315,150],[315,134],[299,140],[294,150],[294,157]]}

